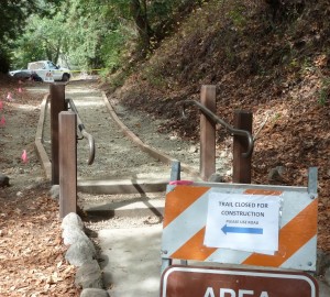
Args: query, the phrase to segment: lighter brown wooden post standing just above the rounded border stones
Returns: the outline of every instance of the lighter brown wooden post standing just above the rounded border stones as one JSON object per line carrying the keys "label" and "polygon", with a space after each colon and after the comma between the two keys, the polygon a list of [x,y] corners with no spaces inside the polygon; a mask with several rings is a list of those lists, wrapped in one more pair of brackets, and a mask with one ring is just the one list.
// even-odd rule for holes
{"label": "lighter brown wooden post standing just above the rounded border stones", "polygon": [[77,114],[59,118],[59,217],[77,212]]}

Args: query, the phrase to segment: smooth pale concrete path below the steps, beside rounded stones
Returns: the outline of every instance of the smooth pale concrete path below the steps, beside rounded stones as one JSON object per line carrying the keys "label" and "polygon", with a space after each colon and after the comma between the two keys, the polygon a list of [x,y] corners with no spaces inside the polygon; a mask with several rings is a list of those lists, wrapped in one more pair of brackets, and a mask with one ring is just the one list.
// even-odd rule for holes
{"label": "smooth pale concrete path below the steps, beside rounded stones", "polygon": [[103,282],[111,297],[157,297],[162,224],[99,232]]}

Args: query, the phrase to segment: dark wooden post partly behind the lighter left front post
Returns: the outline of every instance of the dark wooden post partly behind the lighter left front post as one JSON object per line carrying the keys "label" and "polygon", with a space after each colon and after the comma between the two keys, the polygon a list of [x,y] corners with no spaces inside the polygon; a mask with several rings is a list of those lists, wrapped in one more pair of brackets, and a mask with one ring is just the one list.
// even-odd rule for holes
{"label": "dark wooden post partly behind the lighter left front post", "polygon": [[65,84],[56,82],[50,86],[51,94],[51,145],[52,145],[52,185],[59,184],[58,167],[58,114],[66,110]]}

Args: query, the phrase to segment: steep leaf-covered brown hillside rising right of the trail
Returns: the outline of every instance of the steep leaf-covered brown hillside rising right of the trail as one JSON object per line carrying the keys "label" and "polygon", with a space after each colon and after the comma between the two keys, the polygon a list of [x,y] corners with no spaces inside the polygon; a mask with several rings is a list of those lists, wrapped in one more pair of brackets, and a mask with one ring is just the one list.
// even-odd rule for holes
{"label": "steep leaf-covered brown hillside rising right of the trail", "polygon": [[[189,108],[184,120],[178,102],[198,99],[202,85],[217,86],[218,116],[227,122],[235,109],[253,111],[253,183],[272,183],[270,170],[283,166],[277,184],[306,185],[308,167],[318,166],[318,245],[329,252],[330,7],[326,0],[293,2],[299,6],[274,13],[264,1],[207,1],[109,94],[163,118],[160,132],[195,141],[198,111]],[[218,151],[230,147],[219,128]]]}

